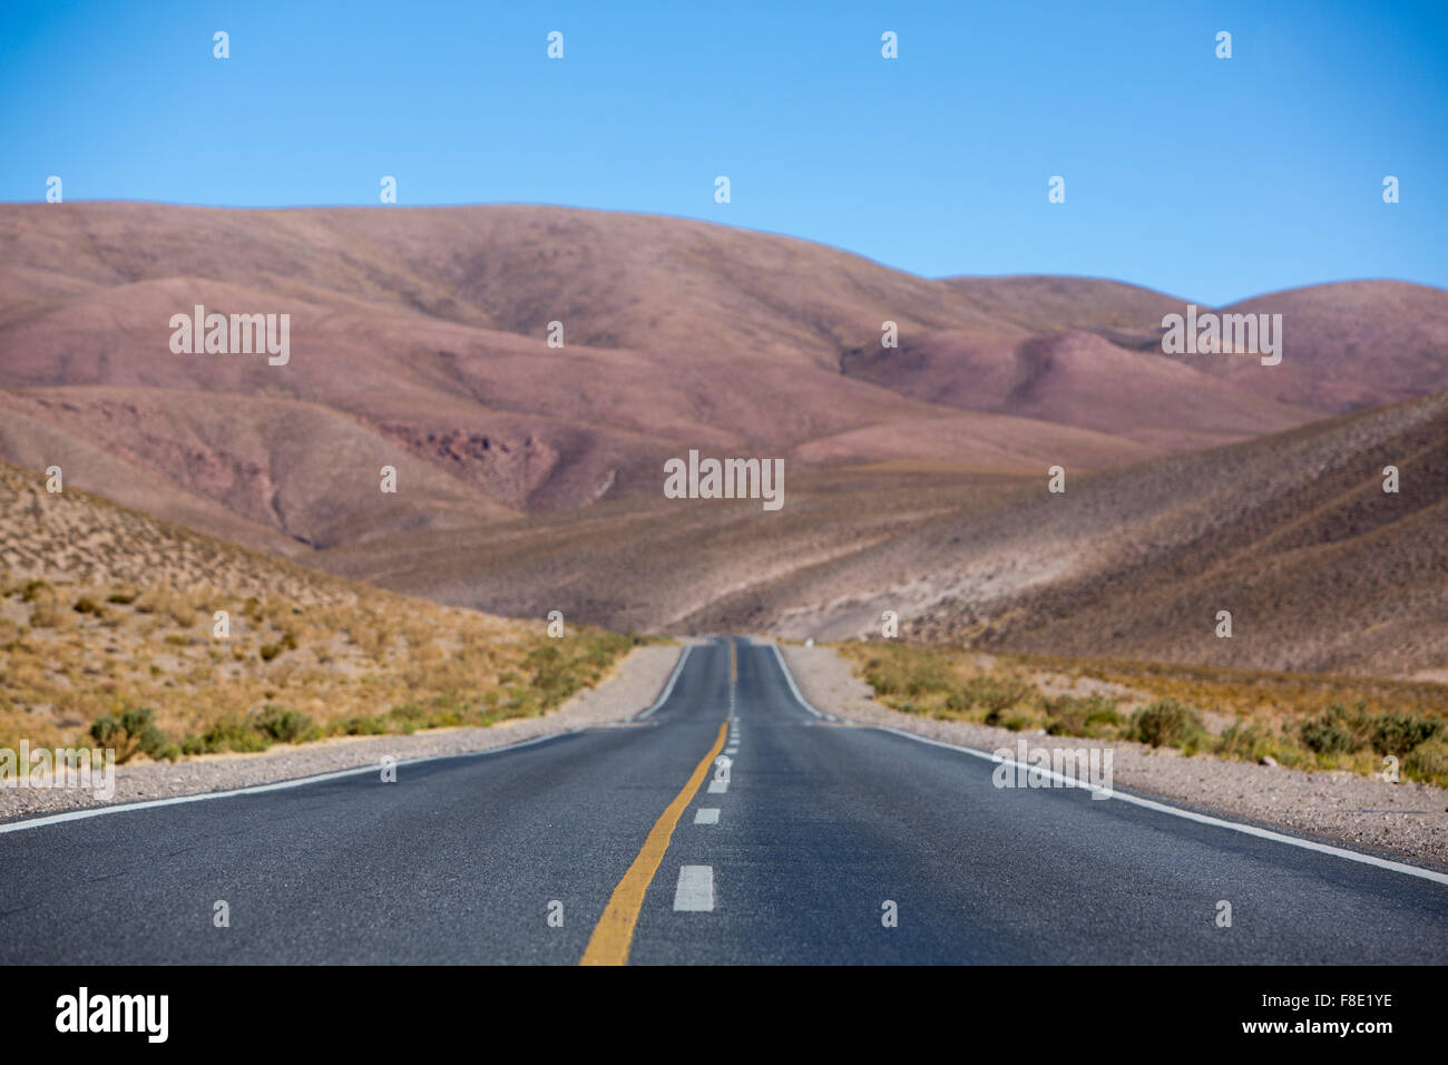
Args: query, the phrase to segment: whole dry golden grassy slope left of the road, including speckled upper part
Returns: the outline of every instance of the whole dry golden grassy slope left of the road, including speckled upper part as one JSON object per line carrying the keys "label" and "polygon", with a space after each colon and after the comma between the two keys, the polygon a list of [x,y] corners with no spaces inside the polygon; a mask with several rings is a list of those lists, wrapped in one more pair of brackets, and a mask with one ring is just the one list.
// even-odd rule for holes
{"label": "whole dry golden grassy slope left of the road, including speckled upper part", "polygon": [[138,707],[152,756],[489,724],[556,707],[634,643],[314,574],[3,465],[0,497],[0,746],[88,743]]}

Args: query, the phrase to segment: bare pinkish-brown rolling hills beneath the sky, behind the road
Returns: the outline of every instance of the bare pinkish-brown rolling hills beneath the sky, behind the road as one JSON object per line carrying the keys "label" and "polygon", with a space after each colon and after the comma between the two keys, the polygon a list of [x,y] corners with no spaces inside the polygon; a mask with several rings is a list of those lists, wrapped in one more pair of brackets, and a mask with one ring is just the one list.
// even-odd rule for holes
{"label": "bare pinkish-brown rolling hills beneath the sky, behind the road", "polygon": [[[0,458],[311,567],[620,629],[1442,665],[1439,290],[1238,304],[1283,314],[1261,367],[1164,355],[1184,300],[1134,285],[656,216],[6,204],[0,241]],[[197,304],[288,314],[285,365],[174,352]],[[785,510],[665,500],[689,449],[782,458]]]}

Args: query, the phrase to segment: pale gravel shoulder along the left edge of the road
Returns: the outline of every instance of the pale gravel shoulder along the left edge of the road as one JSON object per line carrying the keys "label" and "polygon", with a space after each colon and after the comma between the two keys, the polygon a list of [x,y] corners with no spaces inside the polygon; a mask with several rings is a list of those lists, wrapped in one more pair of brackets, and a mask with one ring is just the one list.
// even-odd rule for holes
{"label": "pale gravel shoulder along the left edge of the road", "polygon": [[598,687],[569,698],[542,717],[514,717],[487,729],[433,729],[411,736],[345,736],[272,748],[256,755],[206,755],[180,762],[140,762],[116,767],[116,794],[97,800],[80,788],[0,788],[0,820],[62,813],[93,806],[227,791],[255,784],[313,777],[323,772],[397,761],[462,755],[553,736],[605,727],[647,709],[663,690],[682,646],[634,648]]}

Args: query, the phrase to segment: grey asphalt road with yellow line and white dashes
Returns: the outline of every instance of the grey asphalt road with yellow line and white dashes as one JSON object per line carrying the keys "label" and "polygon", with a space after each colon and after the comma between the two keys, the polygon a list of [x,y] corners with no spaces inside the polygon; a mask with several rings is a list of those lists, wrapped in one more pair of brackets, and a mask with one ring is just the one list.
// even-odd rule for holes
{"label": "grey asphalt road with yellow line and white dashes", "polygon": [[395,782],[0,832],[0,962],[1448,959],[1442,882],[996,788],[989,761],[818,717],[769,645],[695,646],[672,682],[633,722]]}

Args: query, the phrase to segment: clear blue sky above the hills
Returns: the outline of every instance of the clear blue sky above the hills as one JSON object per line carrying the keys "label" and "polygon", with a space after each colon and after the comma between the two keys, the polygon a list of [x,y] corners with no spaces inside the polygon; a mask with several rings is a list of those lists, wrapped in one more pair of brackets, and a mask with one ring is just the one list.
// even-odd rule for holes
{"label": "clear blue sky above the hills", "polygon": [[0,30],[0,200],[375,206],[391,174],[404,206],[679,214],[927,277],[1448,287],[1442,1],[9,3]]}

